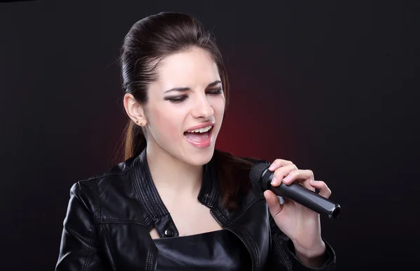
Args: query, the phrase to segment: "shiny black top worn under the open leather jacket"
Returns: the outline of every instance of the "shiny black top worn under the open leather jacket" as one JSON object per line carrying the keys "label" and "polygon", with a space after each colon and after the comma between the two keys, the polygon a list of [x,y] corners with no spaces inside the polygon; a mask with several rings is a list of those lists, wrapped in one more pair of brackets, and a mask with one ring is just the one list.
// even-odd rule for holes
{"label": "shiny black top worn under the open leather jacket", "polygon": [[154,240],[158,270],[251,270],[248,250],[229,230]]}

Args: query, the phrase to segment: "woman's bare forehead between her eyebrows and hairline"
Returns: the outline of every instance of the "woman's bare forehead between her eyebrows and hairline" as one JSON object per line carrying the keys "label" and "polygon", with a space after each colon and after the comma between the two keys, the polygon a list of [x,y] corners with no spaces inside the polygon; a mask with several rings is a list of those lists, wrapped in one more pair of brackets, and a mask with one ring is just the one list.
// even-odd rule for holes
{"label": "woman's bare forehead between her eyebrows and hairline", "polygon": [[207,86],[215,80],[220,80],[217,65],[211,54],[200,48],[171,54],[158,68],[158,82],[164,89]]}

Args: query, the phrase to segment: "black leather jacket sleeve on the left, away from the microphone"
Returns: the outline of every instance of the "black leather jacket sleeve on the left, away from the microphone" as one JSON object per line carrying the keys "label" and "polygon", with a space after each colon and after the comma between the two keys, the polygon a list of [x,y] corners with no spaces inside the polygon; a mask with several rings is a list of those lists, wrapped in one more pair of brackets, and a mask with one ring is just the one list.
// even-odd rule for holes
{"label": "black leather jacket sleeve on the left, away from the microphone", "polygon": [[86,184],[78,182],[71,186],[56,271],[106,270],[97,249],[97,226],[90,203],[93,200],[87,200],[86,194],[90,194]]}

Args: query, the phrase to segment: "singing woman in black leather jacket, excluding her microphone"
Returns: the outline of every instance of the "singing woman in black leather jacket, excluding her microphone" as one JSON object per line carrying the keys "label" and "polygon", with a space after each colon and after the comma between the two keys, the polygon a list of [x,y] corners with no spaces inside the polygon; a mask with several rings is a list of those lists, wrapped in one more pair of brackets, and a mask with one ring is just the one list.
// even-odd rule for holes
{"label": "singing woman in black leather jacket, excluding her microphone", "polygon": [[[181,13],[140,20],[121,54],[126,161],[74,184],[56,270],[331,270],[318,214],[249,182],[255,159],[215,150],[228,78],[214,38]],[[276,180],[330,196],[276,159]]]}

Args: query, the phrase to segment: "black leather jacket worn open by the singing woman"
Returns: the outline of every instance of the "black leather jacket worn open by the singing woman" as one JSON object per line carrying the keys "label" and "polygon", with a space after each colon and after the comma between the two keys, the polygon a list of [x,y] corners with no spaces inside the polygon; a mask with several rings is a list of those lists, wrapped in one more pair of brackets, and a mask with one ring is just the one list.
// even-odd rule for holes
{"label": "black leather jacket worn open by the singing woman", "polygon": [[[251,189],[239,208],[228,212],[220,204],[211,161],[203,176],[198,200],[244,243],[251,270],[312,270],[296,258],[292,242],[270,219],[261,191]],[[151,228],[155,226],[161,237],[178,236],[151,179],[145,151],[107,173],[73,184],[70,196],[56,271],[155,270],[158,251]],[[323,268],[314,270],[335,266],[335,253],[325,244]]]}

